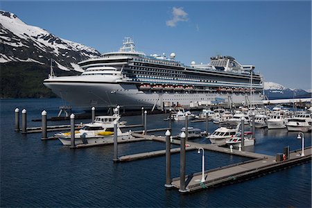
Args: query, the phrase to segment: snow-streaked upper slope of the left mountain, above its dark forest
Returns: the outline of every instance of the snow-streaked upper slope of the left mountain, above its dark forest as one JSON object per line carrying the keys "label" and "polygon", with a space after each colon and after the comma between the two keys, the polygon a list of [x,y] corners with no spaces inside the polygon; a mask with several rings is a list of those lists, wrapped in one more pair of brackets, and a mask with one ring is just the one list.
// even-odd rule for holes
{"label": "snow-streaked upper slope of the left mountain, above its dark forest", "polygon": [[33,62],[81,71],[77,62],[101,55],[95,49],[64,40],[37,26],[25,24],[17,15],[0,10],[0,63]]}

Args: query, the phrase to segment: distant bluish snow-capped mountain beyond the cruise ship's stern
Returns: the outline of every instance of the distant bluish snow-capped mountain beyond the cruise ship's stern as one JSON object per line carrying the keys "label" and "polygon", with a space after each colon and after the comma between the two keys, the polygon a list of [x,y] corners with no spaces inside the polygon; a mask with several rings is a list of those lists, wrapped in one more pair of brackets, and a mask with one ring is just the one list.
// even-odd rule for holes
{"label": "distant bluish snow-capped mountain beyond the cruise ship's stern", "polygon": [[311,97],[311,94],[303,89],[289,89],[281,84],[272,82],[264,83],[264,93],[269,99]]}

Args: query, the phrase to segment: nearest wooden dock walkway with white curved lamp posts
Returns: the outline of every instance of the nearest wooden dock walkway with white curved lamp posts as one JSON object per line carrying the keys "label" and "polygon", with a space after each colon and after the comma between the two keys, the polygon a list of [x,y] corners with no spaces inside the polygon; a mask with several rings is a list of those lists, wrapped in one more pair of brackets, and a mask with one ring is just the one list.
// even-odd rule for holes
{"label": "nearest wooden dock walkway with white curved lamp posts", "polygon": [[[200,182],[202,173],[194,173],[186,176],[186,191],[193,192],[209,187],[217,187],[220,184],[236,182],[237,180],[247,180],[256,175],[270,173],[272,171],[293,166],[311,160],[311,147],[304,150],[304,157],[300,156],[301,150],[291,152],[290,159],[276,162],[275,157],[268,156],[263,159],[254,159],[240,164],[233,164],[221,168],[205,171],[205,182]],[[171,183],[173,187],[180,189],[180,177],[174,178]]]}

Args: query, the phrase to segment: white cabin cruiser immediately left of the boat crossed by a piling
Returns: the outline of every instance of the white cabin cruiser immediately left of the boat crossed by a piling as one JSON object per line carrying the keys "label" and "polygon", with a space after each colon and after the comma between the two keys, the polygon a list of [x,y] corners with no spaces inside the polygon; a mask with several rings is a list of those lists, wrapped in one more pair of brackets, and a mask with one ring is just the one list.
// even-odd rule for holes
{"label": "white cabin cruiser immediately left of the boat crossed by a piling", "polygon": [[207,137],[211,144],[225,144],[225,140],[234,137],[239,132],[240,123],[224,123]]}

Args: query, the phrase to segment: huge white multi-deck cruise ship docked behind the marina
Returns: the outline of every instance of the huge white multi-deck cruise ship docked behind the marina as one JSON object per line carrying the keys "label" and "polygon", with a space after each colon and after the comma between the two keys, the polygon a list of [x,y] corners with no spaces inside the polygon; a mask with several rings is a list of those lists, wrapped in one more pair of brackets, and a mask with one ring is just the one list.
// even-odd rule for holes
{"label": "huge white multi-deck cruise ship docked behind the marina", "polygon": [[263,99],[263,77],[253,65],[243,65],[232,56],[216,55],[209,64],[189,66],[170,57],[135,51],[131,38],[119,51],[78,62],[80,76],[54,76],[44,85],[71,105],[83,110],[108,110],[120,105],[126,110],[163,109],[191,103],[242,103]]}

